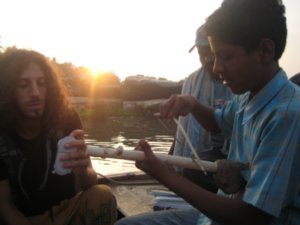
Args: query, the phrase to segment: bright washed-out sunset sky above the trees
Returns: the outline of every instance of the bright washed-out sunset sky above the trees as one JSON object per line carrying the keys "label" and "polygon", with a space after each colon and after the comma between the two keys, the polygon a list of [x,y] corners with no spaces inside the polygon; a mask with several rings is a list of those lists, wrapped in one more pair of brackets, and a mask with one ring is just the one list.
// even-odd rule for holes
{"label": "bright washed-out sunset sky above the trees", "polygon": [[[300,1],[285,0],[288,44],[280,61],[300,72]],[[195,31],[220,0],[1,1],[1,45],[30,48],[59,62],[180,80],[199,67]]]}

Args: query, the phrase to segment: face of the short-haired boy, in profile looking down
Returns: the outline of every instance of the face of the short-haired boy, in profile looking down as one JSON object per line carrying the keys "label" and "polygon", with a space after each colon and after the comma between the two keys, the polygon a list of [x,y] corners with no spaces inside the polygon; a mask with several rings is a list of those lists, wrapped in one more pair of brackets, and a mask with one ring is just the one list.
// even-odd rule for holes
{"label": "face of the short-haired boy, in profile looking down", "polygon": [[250,91],[253,95],[261,88],[264,79],[257,50],[247,53],[244,48],[209,37],[215,56],[214,72],[233,93]]}

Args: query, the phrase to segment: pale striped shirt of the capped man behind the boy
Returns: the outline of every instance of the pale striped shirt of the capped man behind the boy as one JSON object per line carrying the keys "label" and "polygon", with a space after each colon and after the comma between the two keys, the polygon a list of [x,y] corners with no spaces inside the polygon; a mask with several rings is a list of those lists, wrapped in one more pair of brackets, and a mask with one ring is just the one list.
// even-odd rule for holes
{"label": "pale striped shirt of the capped man behind the boy", "polygon": [[[231,90],[221,80],[214,79],[203,68],[196,70],[188,76],[183,83],[181,94],[192,95],[198,101],[215,109],[220,108],[225,102],[232,99],[233,96]],[[220,134],[211,134],[205,130],[191,113],[187,116],[180,116],[179,123],[190,137],[191,143],[200,158],[203,152],[207,153],[214,147],[222,148],[224,137]],[[223,153],[227,153],[226,150],[224,147]],[[174,155],[184,157],[192,157],[193,155],[190,146],[179,129],[176,132]],[[178,168],[178,170],[181,171],[181,168]]]}

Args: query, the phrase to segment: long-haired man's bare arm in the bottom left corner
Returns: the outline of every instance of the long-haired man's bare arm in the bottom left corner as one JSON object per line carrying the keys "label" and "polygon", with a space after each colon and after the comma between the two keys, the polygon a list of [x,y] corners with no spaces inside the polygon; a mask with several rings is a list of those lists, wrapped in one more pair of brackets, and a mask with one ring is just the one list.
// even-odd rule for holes
{"label": "long-haired man's bare arm in the bottom left corner", "polygon": [[7,180],[0,181],[0,221],[6,225],[30,225],[29,220],[15,207]]}

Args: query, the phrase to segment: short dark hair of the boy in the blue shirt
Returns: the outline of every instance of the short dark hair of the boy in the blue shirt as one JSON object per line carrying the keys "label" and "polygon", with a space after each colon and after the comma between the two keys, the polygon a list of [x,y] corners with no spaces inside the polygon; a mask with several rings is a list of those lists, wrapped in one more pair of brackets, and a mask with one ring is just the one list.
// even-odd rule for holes
{"label": "short dark hair of the boy in the blue shirt", "polygon": [[205,30],[208,36],[242,46],[248,53],[262,39],[270,39],[278,61],[286,45],[285,7],[281,0],[224,0],[206,19]]}

